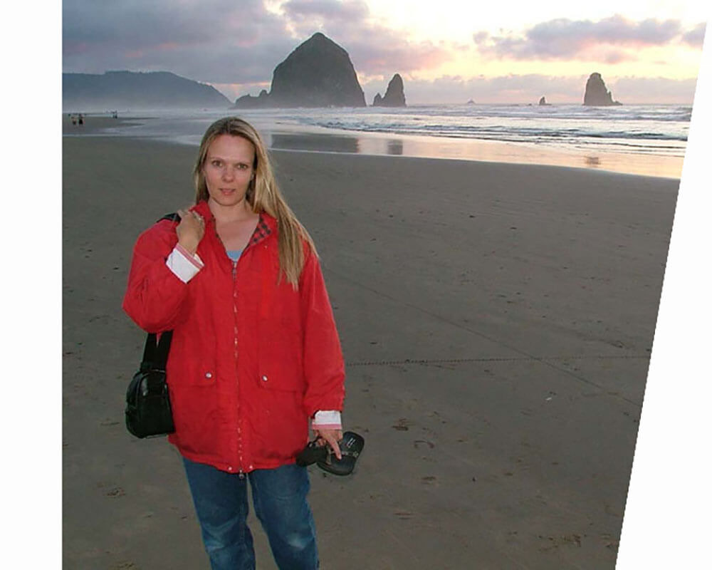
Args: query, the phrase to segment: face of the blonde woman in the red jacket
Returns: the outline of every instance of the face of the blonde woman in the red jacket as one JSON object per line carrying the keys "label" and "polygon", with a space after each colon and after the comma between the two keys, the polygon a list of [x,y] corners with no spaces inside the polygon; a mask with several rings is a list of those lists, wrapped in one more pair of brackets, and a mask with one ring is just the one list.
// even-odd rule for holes
{"label": "face of the blonde woman in the red jacket", "polygon": [[243,202],[254,176],[255,147],[246,138],[219,135],[210,143],[203,175],[210,199],[221,206]]}

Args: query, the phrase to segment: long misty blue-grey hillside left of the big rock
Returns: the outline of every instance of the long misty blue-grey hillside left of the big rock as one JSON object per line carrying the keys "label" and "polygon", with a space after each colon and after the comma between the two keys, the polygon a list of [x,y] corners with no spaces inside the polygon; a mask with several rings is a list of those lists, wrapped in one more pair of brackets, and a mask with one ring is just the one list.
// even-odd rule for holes
{"label": "long misty blue-grey hillside left of the big rock", "polygon": [[62,108],[65,112],[228,108],[230,105],[231,101],[214,87],[167,71],[62,74]]}

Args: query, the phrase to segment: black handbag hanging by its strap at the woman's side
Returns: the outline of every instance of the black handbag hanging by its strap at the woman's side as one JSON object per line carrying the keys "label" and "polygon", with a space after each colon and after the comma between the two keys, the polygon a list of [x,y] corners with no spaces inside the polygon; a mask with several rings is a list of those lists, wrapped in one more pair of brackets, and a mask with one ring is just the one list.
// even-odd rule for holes
{"label": "black handbag hanging by its strap at the woman's side", "polygon": [[175,431],[166,383],[166,362],[173,331],[149,333],[141,368],[126,390],[126,428],[136,437],[157,437]]}

